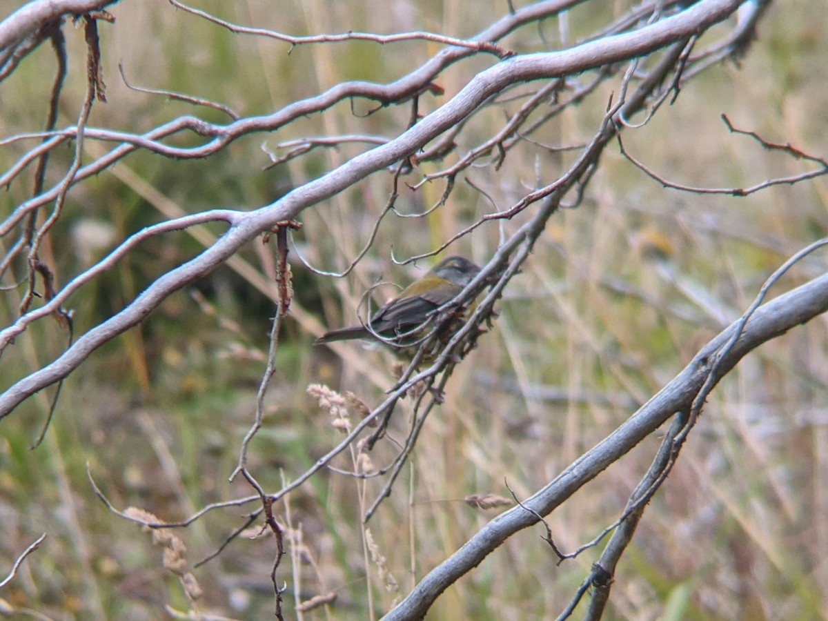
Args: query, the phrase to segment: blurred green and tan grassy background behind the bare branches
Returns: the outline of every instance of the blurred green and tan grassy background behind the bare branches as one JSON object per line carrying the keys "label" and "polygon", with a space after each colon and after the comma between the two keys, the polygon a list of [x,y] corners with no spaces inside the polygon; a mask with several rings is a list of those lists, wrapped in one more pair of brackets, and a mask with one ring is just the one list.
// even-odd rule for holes
{"label": "blurred green and tan grassy background behind the bare branches", "polygon": [[[505,10],[503,2],[201,2],[233,22],[291,34],[341,31],[440,31],[470,36]],[[576,41],[627,2],[585,3],[569,14]],[[643,128],[624,132],[625,146],[659,174],[688,185],[750,185],[802,170],[802,162],[763,151],[729,134],[726,113],[739,128],[769,140],[824,153],[828,144],[828,22],[818,0],[778,2],[758,41],[738,67],[721,65],[690,84],[670,108]],[[7,12],[7,11],[6,11]],[[422,42],[299,46],[234,36],[166,2],[120,2],[117,22],[101,26],[108,103],[96,104],[90,125],[143,132],[184,114],[224,123],[220,113],[129,90],[133,84],[171,89],[226,103],[243,115],[267,114],[346,79],[390,82],[436,52]],[[557,26],[546,23],[554,44]],[[84,93],[82,32],[66,29],[70,75],[59,127],[75,123]],[[546,49],[535,28],[505,42],[520,51]],[[290,54],[288,54],[290,51]],[[421,99],[427,113],[455,94],[492,60],[472,58],[440,77],[442,98]],[[0,89],[0,132],[34,132],[43,123],[54,55],[46,47],[27,58]],[[613,85],[572,108],[533,138],[548,144],[589,139]],[[358,113],[367,112],[355,103]],[[409,108],[354,115],[340,104],[303,118],[276,135],[234,142],[205,160],[167,161],[137,153],[69,195],[51,236],[48,258],[60,282],[89,266],[123,239],[171,213],[211,208],[253,209],[319,176],[363,150],[316,150],[264,170],[267,152],[296,137],[351,132],[392,135]],[[460,153],[499,127],[502,113],[482,113],[460,135]],[[187,143],[196,143],[188,137]],[[7,170],[24,149],[0,150]],[[90,142],[89,156],[103,148]],[[97,151],[96,151],[97,150]],[[611,152],[610,152],[611,151]],[[51,183],[71,157],[53,157]],[[497,175],[471,178],[503,208],[566,162],[527,145],[511,152]],[[406,181],[414,182],[424,170]],[[401,211],[435,202],[441,185],[406,190]],[[0,195],[7,213],[31,186],[14,183]],[[367,239],[388,199],[388,176],[303,214],[297,249],[317,267],[344,267]],[[584,450],[603,439],[662,387],[696,349],[734,320],[764,279],[792,253],[825,235],[826,181],[777,186],[748,198],[665,190],[609,150],[578,209],[551,220],[522,275],[498,305],[492,332],[450,380],[445,405],[433,414],[406,476],[368,527],[388,580],[363,551],[359,525],[363,493],[382,480],[357,482],[332,473],[311,479],[279,503],[288,551],[279,570],[286,611],[294,597],[333,591],[328,610],[307,619],[366,619],[368,599],[378,614],[416,580],[461,546],[494,511],[469,508],[473,493],[508,496],[503,479],[526,498]],[[173,212],[170,211],[173,209]],[[254,440],[249,468],[268,491],[279,489],[339,441],[330,417],[306,397],[309,383],[356,392],[378,402],[392,383],[383,351],[349,345],[343,358],[313,348],[311,330],[353,322],[359,297],[383,277],[405,283],[416,275],[392,267],[436,247],[472,219],[492,210],[479,192],[458,183],[448,209],[428,219],[389,215],[372,253],[352,277],[331,281],[296,262],[295,319],[284,327],[277,378],[268,393],[266,425]],[[522,221],[503,223],[507,230]],[[218,235],[219,227],[207,227]],[[479,229],[452,248],[484,262],[498,229]],[[103,278],[73,297],[79,333],[117,311],[147,284],[203,248],[190,233],[142,244]],[[295,258],[296,253],[291,253]],[[272,248],[256,242],[240,258],[272,282]],[[777,291],[824,272],[824,257],[802,262]],[[18,275],[22,272],[17,272]],[[378,299],[393,295],[381,289]],[[29,447],[45,424],[53,390],[24,402],[0,422],[0,568],[41,532],[46,542],[30,556],[0,597],[23,614],[51,619],[157,619],[164,606],[190,604],[161,564],[161,548],[138,527],[108,513],[94,497],[85,469],[118,508],[135,506],[176,521],[219,500],[248,495],[227,478],[253,419],[255,392],[267,353],[272,291],[237,267],[205,277],[171,296],[140,328],[100,349],[66,381],[44,445]],[[0,297],[3,325],[17,312],[14,291]],[[316,321],[316,323],[315,323]],[[616,575],[609,619],[816,619],[828,616],[828,333],[825,320],[763,346],[720,384],[696,433],[652,502]],[[0,388],[55,358],[67,336],[55,325],[32,326],[2,359]],[[364,369],[368,368],[369,373]],[[407,429],[402,407],[390,435]],[[564,551],[590,541],[623,510],[649,465],[658,438],[643,442],[619,464],[548,517]],[[378,445],[375,465],[393,446]],[[336,465],[353,469],[349,458]],[[213,553],[243,524],[254,505],[209,513],[177,531],[190,566]],[[258,534],[253,527],[252,535]],[[556,566],[532,528],[507,542],[447,591],[429,619],[546,619],[561,612],[583,580],[592,552]],[[242,537],[194,570],[205,591],[200,609],[240,619],[272,616],[270,537]],[[0,569],[0,574],[4,573]],[[31,613],[34,615],[35,613]]]}

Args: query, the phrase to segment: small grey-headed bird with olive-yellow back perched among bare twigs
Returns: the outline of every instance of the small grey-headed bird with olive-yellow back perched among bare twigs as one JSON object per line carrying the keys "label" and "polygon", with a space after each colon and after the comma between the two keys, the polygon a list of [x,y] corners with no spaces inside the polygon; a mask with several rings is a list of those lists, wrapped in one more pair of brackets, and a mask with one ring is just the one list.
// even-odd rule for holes
{"label": "small grey-headed bird with olive-yellow back perched among bare twigs", "polygon": [[[383,337],[394,349],[406,349],[417,344],[424,335],[416,328],[440,306],[453,300],[480,272],[479,265],[464,257],[445,258],[421,278],[402,290],[399,296],[374,313],[366,325],[354,325],[330,330],[314,344],[338,340]],[[454,325],[452,320],[450,325]],[[446,328],[444,332],[449,330]]]}

